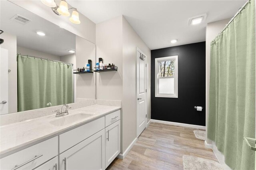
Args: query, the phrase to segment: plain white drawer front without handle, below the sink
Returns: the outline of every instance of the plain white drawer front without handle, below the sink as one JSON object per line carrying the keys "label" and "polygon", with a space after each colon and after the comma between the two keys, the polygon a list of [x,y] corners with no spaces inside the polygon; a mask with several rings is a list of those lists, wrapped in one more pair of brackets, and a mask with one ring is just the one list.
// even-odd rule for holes
{"label": "plain white drawer front without handle, below the sink", "polygon": [[60,153],[105,128],[105,117],[86,123],[60,135]]}

